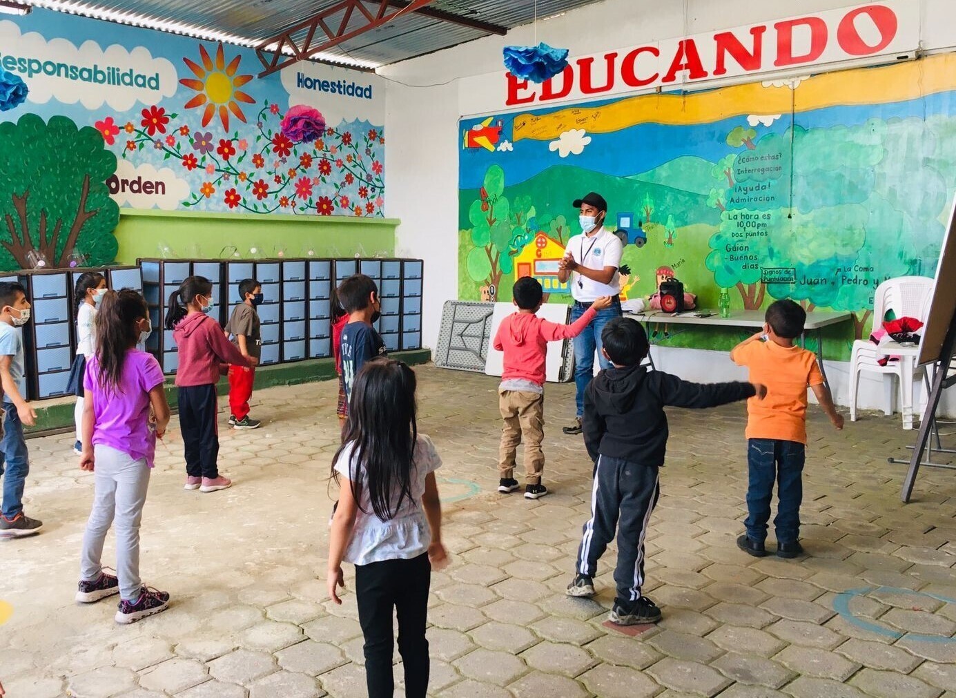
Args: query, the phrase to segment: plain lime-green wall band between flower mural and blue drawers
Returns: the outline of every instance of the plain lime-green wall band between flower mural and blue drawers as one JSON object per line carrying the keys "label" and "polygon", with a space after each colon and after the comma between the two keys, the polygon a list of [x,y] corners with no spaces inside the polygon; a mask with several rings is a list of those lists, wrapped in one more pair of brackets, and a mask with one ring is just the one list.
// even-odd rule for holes
{"label": "plain lime-green wall band between flower mural and blue drawers", "polygon": [[120,208],[115,230],[120,251],[117,264],[136,264],[139,257],[162,256],[167,245],[171,256],[218,259],[224,248],[234,246],[243,257],[250,247],[272,257],[278,248],[286,256],[351,257],[357,252],[371,257],[395,254],[395,218],[346,218],[344,216],[261,216],[251,213],[206,213],[199,211],[138,210]]}

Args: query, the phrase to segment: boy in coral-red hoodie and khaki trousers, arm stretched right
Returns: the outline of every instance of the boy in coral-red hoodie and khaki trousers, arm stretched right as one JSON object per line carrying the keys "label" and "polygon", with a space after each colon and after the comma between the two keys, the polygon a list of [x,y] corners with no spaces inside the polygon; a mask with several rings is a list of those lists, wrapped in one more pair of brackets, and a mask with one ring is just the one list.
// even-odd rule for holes
{"label": "boy in coral-red hoodie and khaki trousers, arm stretched right", "polygon": [[544,380],[548,342],[576,338],[597,311],[611,307],[611,297],[598,298],[572,325],[558,325],[534,315],[541,307],[541,284],[530,276],[518,279],[511,291],[518,312],[506,317],[494,337],[494,348],[505,353],[505,369],[498,387],[498,406],[505,425],[499,449],[499,492],[518,489],[514,479],[514,457],[522,438],[525,441],[525,498],[538,499],[548,493],[541,484],[544,471]]}

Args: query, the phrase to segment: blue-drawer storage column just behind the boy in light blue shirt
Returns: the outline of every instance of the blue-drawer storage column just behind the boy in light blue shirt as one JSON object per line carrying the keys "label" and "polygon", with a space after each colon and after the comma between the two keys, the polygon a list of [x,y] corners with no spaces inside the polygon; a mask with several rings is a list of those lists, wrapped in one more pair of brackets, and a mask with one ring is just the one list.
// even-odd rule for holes
{"label": "blue-drawer storage column just behind the boy in light blue shirt", "polygon": [[27,290],[32,311],[23,326],[27,399],[66,395],[73,362],[73,312],[67,270],[23,271],[17,280]]}

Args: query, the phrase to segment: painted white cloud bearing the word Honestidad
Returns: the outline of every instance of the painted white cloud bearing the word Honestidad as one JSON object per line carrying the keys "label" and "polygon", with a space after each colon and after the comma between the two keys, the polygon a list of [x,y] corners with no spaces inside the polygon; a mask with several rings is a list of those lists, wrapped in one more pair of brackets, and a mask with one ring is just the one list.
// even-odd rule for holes
{"label": "painted white cloud bearing the word Honestidad", "polygon": [[331,126],[343,120],[385,124],[385,82],[374,73],[302,61],[283,69],[279,76],[289,93],[289,106],[313,106]]}

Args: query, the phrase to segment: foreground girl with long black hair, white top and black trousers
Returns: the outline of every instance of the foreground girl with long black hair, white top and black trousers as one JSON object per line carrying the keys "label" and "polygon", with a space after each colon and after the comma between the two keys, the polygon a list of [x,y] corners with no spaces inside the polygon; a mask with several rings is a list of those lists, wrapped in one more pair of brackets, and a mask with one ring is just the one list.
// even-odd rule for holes
{"label": "foreground girl with long black hair, white top and black trousers", "polygon": [[447,555],[434,472],[442,462],[416,427],[414,371],[397,360],[366,362],[352,388],[347,429],[333,462],[339,493],[329,538],[329,596],[341,603],[341,563],[355,564],[368,695],[391,696],[395,689],[397,611],[405,695],[424,698],[431,567],[444,566]]}

